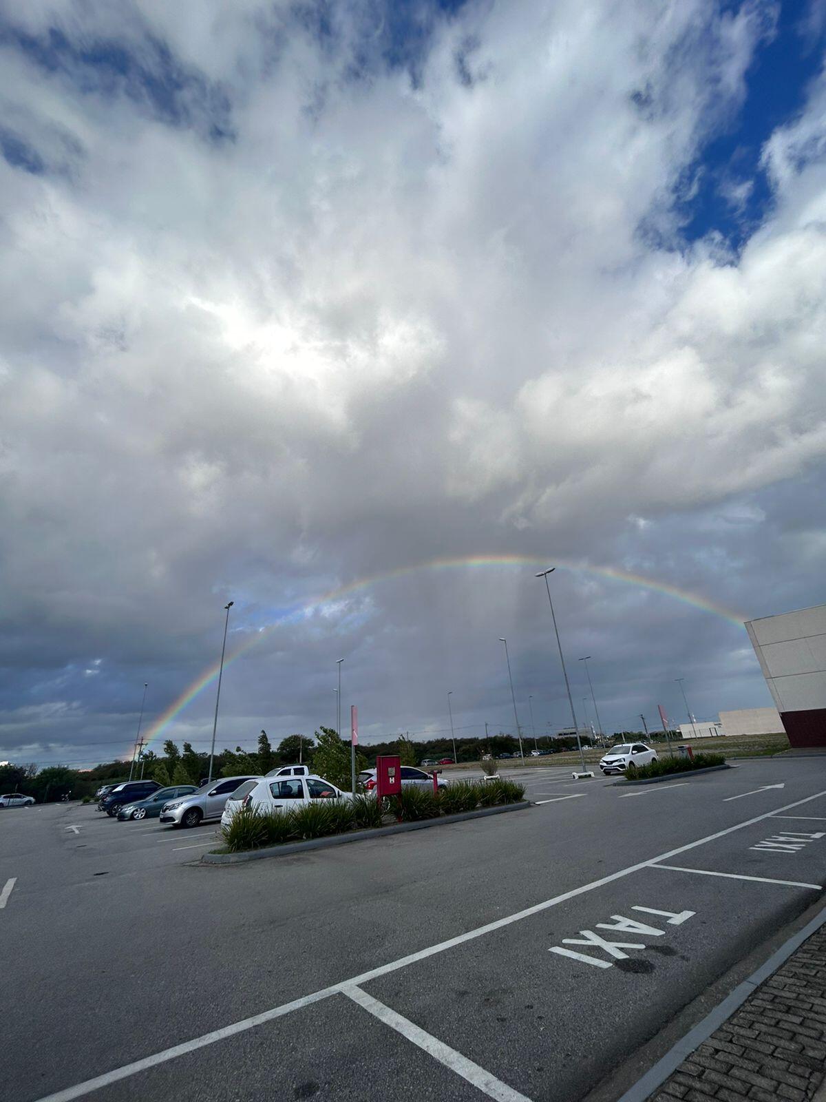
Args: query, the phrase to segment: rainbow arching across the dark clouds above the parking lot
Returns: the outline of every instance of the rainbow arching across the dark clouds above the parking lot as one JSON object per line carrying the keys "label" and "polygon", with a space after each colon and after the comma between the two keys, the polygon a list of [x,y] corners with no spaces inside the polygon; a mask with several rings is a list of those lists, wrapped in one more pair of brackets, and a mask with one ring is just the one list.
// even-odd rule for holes
{"label": "rainbow arching across the dark clouds above the parking lot", "polygon": [[[344,597],[349,597],[355,593],[368,590],[381,582],[406,577],[410,574],[417,574],[424,570],[467,570],[469,568],[490,569],[497,566],[531,566],[544,569],[547,565],[548,563],[546,559],[535,559],[530,555],[467,555],[464,558],[431,559],[426,562],[415,563],[410,566],[399,566],[395,570],[388,570],[378,574],[371,574],[369,577],[359,579],[357,582],[349,582],[347,585],[329,590],[327,593],[312,597],[309,601],[282,609],[281,614],[272,624],[256,631],[252,635],[252,638],[248,639],[247,642],[242,644],[237,650],[225,658],[224,668],[226,670],[232,662],[238,661],[238,659],[246,655],[247,651],[251,650],[258,642],[260,642],[261,639],[268,635],[268,633],[272,631],[279,625],[295,616],[297,613],[306,615],[319,606],[328,604],[333,601],[340,601]],[[559,559],[554,560],[553,565],[559,570],[594,574],[598,577],[608,577],[617,582],[642,586],[643,588],[650,590],[654,593],[661,593],[666,597],[673,597],[675,601],[681,601],[683,604],[689,605],[692,608],[698,608],[704,613],[720,616],[722,619],[728,620],[729,624],[735,624],[740,628],[743,626],[746,620],[745,616],[740,616],[731,609],[725,608],[722,605],[718,605],[715,602],[709,601],[707,597],[699,596],[695,593],[688,593],[685,590],[680,590],[676,585],[669,585],[665,582],[659,582],[651,577],[644,577],[642,574],[633,574],[630,571],[620,570],[617,566],[594,566],[586,562],[573,562]],[[157,716],[155,722],[146,732],[146,747],[159,738],[169,724],[184,711],[187,704],[195,700],[195,698],[218,677],[219,666],[219,662],[215,662],[213,666],[207,667],[207,669],[204,670],[203,673],[198,674],[195,681],[188,685],[177,700],[174,700],[169,707]],[[131,746],[127,753],[131,755]]]}

